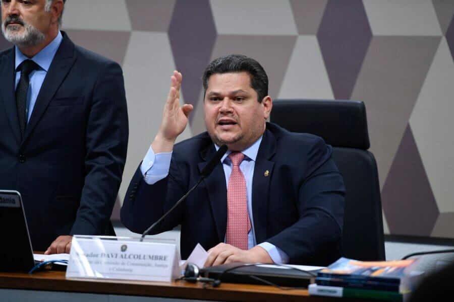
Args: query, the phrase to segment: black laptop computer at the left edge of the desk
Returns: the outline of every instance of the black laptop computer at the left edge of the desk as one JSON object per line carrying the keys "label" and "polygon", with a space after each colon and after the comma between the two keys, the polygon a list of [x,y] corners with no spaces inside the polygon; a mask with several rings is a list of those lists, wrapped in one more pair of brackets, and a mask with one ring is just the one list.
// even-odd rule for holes
{"label": "black laptop computer at the left edge of the desk", "polygon": [[24,205],[18,191],[0,190],[0,271],[29,271],[38,261],[25,219]]}

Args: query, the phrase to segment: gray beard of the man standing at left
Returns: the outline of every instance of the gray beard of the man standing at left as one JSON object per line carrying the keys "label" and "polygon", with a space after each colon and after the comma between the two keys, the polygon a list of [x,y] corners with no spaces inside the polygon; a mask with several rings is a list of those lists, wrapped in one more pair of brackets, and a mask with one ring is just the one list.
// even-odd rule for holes
{"label": "gray beard of the man standing at left", "polygon": [[46,39],[46,36],[36,27],[24,22],[23,33],[18,33],[20,25],[10,25],[8,28],[5,23],[2,23],[2,32],[5,39],[18,46],[19,48],[28,48],[41,44]]}

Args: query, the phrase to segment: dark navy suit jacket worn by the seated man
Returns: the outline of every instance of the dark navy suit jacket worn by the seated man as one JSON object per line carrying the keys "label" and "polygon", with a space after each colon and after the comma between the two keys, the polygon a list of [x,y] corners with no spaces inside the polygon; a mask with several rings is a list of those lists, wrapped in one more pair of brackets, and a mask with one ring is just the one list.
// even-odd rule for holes
{"label": "dark navy suit jacket worn by the seated man", "polygon": [[[136,171],[121,210],[123,223],[144,232],[200,178],[215,153],[204,132],[175,145],[169,175],[148,185]],[[265,176],[268,171],[268,176]],[[345,188],[331,147],[317,136],[267,123],[255,163],[252,211],[257,244],[269,242],[291,263],[327,265],[341,256]],[[219,162],[209,177],[152,233],[181,224],[181,254],[197,243],[209,249],[225,238],[227,194]]]}

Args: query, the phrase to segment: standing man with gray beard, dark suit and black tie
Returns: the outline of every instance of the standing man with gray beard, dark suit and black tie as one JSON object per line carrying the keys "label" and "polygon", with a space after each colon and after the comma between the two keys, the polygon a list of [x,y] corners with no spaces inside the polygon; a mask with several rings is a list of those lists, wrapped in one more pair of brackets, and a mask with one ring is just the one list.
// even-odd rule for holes
{"label": "standing man with gray beard, dark suit and black tie", "polygon": [[34,250],[104,235],[122,179],[128,116],[121,67],[59,30],[62,0],[2,0],[0,188],[18,190]]}

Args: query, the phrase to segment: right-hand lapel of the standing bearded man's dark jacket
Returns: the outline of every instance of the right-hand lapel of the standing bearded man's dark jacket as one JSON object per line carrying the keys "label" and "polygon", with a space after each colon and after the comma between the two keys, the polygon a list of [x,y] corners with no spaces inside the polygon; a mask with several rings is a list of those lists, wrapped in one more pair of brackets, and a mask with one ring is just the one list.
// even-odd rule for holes
{"label": "right-hand lapel of the standing bearded man's dark jacket", "polygon": [[44,82],[42,83],[41,90],[39,91],[36,99],[35,107],[33,108],[30,116],[30,121],[27,124],[25,130],[24,139],[25,141],[33,128],[41,119],[44,114],[47,105],[49,105],[55,92],[59,89],[66,75],[68,74],[71,67],[74,65],[76,58],[74,57],[74,43],[68,38],[66,34],[63,36],[62,44],[55,53],[52,63],[50,64],[49,70],[47,71]]}

